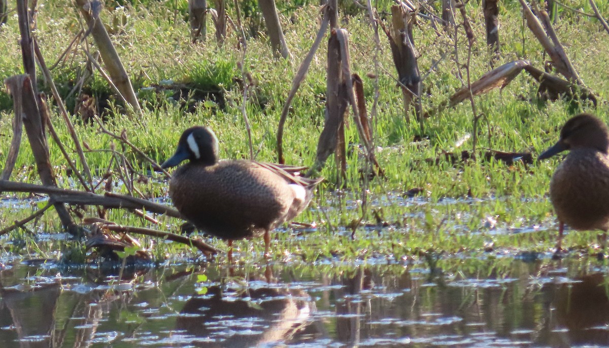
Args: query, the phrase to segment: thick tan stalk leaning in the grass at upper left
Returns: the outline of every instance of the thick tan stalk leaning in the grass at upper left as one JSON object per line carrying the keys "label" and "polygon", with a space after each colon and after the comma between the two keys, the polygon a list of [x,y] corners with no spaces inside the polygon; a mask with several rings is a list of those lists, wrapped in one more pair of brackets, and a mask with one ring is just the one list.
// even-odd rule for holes
{"label": "thick tan stalk leaning in the grass at upper left", "polygon": [[[99,12],[102,9],[101,3],[97,1],[76,0],[76,4],[89,27],[87,32],[90,32],[91,35],[93,35],[93,39],[97,44],[97,49],[110,74],[111,80],[118,90],[121,91],[121,94],[127,100],[128,105],[133,108],[133,112],[140,114],[142,110],[139,107],[138,98],[133,90],[131,80],[121,63],[118,52],[114,49],[112,40],[110,40],[110,36],[108,35],[101,18],[99,18]],[[125,105],[125,107],[127,107],[127,105]]]}

